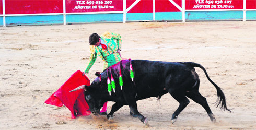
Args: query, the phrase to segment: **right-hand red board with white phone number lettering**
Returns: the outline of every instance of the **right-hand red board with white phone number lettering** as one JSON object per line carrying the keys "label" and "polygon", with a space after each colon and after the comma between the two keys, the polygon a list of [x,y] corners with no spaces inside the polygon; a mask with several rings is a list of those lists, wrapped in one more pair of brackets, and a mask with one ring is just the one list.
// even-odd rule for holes
{"label": "right-hand red board with white phone number lettering", "polygon": [[243,0],[185,0],[185,9],[243,9]]}

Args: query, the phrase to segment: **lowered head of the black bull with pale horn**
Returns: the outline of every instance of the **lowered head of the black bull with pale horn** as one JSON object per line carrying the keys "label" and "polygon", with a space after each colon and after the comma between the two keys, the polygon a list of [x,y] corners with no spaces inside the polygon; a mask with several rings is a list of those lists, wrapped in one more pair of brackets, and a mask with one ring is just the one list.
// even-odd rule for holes
{"label": "lowered head of the black bull with pale horn", "polygon": [[[84,89],[85,92],[85,101],[87,102],[87,104],[89,105],[88,110],[91,111],[92,114],[97,115],[100,113],[100,109],[103,107],[104,102],[102,97],[103,97],[103,92],[95,89],[92,86],[86,86],[86,85],[82,85],[77,87],[76,89],[72,90],[72,91],[76,91],[79,89]],[[70,91],[70,92],[72,92]]]}

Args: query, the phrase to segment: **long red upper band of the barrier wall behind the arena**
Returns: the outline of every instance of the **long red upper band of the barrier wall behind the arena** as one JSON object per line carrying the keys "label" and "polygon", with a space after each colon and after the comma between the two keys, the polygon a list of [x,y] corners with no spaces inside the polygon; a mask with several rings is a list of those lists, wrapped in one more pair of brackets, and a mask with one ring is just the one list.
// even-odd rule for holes
{"label": "long red upper band of the barrier wall behind the arena", "polygon": [[[126,0],[129,8],[136,0]],[[181,0],[173,0],[181,7]],[[169,0],[156,0],[156,12],[180,12]],[[0,14],[3,14],[0,0]],[[243,0],[185,0],[185,9],[243,9]],[[256,0],[246,0],[246,9],[256,9]],[[66,0],[66,12],[122,11],[123,0]],[[63,13],[62,0],[5,0],[6,14]],[[128,13],[153,13],[153,0],[139,1]]]}

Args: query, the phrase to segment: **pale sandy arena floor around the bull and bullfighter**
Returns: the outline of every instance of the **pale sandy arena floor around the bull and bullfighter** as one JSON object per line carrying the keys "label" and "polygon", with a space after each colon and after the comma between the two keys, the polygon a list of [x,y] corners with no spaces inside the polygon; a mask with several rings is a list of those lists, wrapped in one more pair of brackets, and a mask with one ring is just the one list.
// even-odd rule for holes
{"label": "pale sandy arena floor around the bull and bullfighter", "polygon": [[[201,94],[216,116],[210,121],[201,105],[190,104],[171,125],[178,102],[170,94],[138,101],[149,127],[125,106],[104,117],[71,119],[66,107],[45,104],[76,70],[85,70],[91,33],[121,34],[124,58],[196,62],[226,96],[232,113],[216,108],[217,92],[200,68]],[[256,21],[133,22],[84,25],[0,27],[0,129],[256,129]],[[87,75],[92,81],[103,62]],[[113,102],[108,105],[108,111]]]}

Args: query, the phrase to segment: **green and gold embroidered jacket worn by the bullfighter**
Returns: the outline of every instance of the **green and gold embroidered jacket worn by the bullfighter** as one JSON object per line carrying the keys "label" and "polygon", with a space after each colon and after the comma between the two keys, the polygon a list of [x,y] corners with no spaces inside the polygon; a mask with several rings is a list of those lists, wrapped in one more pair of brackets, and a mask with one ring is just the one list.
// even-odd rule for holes
{"label": "green and gold embroidered jacket worn by the bullfighter", "polygon": [[105,67],[109,67],[106,65],[111,61],[108,61],[106,57],[112,53],[117,53],[118,49],[121,50],[122,39],[119,34],[107,31],[101,34],[100,37],[107,44],[107,49],[102,49],[100,46],[90,45],[90,58],[85,70],[86,73],[88,73],[91,66],[94,65],[97,56],[105,62]]}

